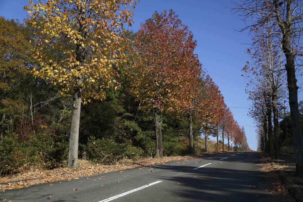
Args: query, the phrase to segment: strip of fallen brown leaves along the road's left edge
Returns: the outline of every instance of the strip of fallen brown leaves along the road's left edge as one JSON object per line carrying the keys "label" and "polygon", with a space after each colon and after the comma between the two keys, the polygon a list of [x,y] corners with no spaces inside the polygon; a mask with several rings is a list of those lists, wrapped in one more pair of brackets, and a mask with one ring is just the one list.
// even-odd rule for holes
{"label": "strip of fallen brown leaves along the road's left edge", "polygon": [[[196,159],[203,156],[208,156],[212,154],[220,154],[225,152],[208,152],[203,154],[194,154],[178,157],[163,157],[163,158],[147,158],[135,160],[133,163],[122,163],[115,166],[112,165],[95,165],[95,166],[85,166],[79,165],[78,169],[68,169],[68,168],[55,168],[52,170],[39,170],[30,168],[30,170],[20,173],[14,176],[0,177],[0,183],[7,183],[0,185],[0,192],[10,189],[22,189],[23,187],[28,187],[31,185],[51,183],[62,180],[71,181],[72,179],[79,179],[79,177],[91,176],[100,173],[107,173],[111,171],[133,169],[135,167],[145,167],[150,165],[160,165],[166,164],[171,161],[188,161],[186,159]],[[178,162],[177,162],[178,163]],[[142,169],[143,170],[143,169]],[[104,176],[105,177],[105,176]],[[32,179],[32,180],[29,180]],[[88,179],[88,177],[86,178]],[[18,182],[15,182],[18,181]],[[60,182],[61,183],[61,182]]]}

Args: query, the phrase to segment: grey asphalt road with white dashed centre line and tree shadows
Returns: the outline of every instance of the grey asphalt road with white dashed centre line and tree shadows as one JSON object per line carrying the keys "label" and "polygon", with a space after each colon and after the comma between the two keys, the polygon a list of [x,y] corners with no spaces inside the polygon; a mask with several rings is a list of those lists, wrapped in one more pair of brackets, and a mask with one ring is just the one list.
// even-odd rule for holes
{"label": "grey asphalt road with white dashed centre line and tree shadows", "polygon": [[[270,201],[259,153],[229,152],[7,190],[12,202]],[[105,177],[103,177],[105,176]],[[118,182],[119,181],[119,182]],[[53,184],[49,186],[49,184]],[[72,190],[77,187],[78,190]],[[48,196],[52,196],[48,199]]]}

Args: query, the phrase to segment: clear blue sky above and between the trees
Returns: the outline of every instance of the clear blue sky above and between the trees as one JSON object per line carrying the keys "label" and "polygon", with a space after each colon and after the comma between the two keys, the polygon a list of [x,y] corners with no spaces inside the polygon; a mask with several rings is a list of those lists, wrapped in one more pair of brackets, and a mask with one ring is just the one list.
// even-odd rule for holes
{"label": "clear blue sky above and between the trees", "polygon": [[[244,77],[241,76],[241,69],[250,60],[245,50],[250,48],[251,36],[248,32],[234,30],[243,28],[245,24],[238,15],[232,15],[223,2],[230,5],[229,1],[220,0],[141,0],[134,10],[135,24],[129,29],[137,31],[140,23],[145,22],[155,11],[173,9],[193,33],[198,44],[195,53],[203,68],[219,86],[235,120],[240,127],[245,127],[249,147],[256,150],[256,133],[255,128],[251,127],[254,126],[253,119],[247,116],[248,109],[234,108],[249,107],[251,104],[245,93]],[[28,5],[27,0],[0,0],[0,16],[23,22],[22,19],[27,15],[22,9],[24,5]]]}

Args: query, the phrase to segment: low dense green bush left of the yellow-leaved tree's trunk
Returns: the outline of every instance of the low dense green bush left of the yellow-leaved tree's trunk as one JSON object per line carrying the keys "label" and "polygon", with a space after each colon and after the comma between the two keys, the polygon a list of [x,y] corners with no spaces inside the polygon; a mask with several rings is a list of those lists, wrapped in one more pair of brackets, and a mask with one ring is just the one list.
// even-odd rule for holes
{"label": "low dense green bush left of the yellow-leaved tree's trunk", "polygon": [[20,140],[15,133],[8,133],[0,144],[0,174],[14,174],[35,165],[44,168],[55,168],[62,164],[66,157],[67,143],[55,142],[55,136],[36,134]]}

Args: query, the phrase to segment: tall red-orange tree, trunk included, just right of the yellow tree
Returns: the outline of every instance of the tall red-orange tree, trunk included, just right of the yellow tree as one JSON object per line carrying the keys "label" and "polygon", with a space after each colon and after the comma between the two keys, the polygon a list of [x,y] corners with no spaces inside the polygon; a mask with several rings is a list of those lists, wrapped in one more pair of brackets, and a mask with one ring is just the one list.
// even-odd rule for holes
{"label": "tall red-orange tree, trunk included, just right of the yellow tree", "polygon": [[153,108],[155,158],[163,156],[161,112],[181,111],[191,98],[192,79],[200,73],[196,41],[172,10],[155,12],[141,24],[133,41],[135,59],[126,69],[129,92]]}

